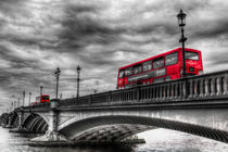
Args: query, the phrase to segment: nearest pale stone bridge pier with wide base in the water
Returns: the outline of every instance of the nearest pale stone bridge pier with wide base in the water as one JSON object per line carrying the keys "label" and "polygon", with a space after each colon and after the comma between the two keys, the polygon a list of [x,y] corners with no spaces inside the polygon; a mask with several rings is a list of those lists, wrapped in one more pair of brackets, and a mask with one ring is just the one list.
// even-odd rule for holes
{"label": "nearest pale stone bridge pier with wide base in the water", "polygon": [[[61,142],[61,141],[67,141],[67,139],[60,135],[58,131],[58,124],[59,124],[59,99],[51,101],[51,110],[49,112],[49,128],[46,131],[43,136],[36,137],[34,139],[30,139],[31,142],[42,142],[43,145],[46,145],[46,142]],[[35,143],[36,144],[36,143]]]}

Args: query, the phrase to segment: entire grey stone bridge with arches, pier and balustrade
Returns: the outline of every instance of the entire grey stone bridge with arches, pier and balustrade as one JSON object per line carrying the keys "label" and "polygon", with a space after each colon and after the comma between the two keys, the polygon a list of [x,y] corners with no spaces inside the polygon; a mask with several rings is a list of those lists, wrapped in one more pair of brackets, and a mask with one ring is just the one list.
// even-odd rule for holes
{"label": "entire grey stone bridge with arches, pier and balustrade", "polygon": [[33,141],[113,142],[166,128],[228,142],[228,71],[50,103],[0,117],[3,127],[41,131]]}

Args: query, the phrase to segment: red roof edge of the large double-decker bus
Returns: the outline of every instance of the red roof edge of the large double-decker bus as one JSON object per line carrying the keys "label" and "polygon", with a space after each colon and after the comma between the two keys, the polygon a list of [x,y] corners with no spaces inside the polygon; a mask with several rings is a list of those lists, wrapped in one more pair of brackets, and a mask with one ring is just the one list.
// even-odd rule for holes
{"label": "red roof edge of the large double-decker bus", "polygon": [[[151,56],[151,58],[148,58],[148,59],[144,59],[144,60],[141,60],[141,61],[131,63],[131,64],[128,64],[126,66],[119,67],[119,69],[127,68],[127,67],[130,67],[130,66],[140,64],[140,63],[143,63],[143,62],[147,62],[147,61],[150,61],[150,60],[160,58],[160,56],[164,56],[164,55],[170,54],[170,53],[176,52],[176,51],[181,51],[181,50],[182,50],[182,48],[177,48],[177,49],[174,49],[174,50],[170,50],[170,51],[167,51],[167,52],[164,52],[164,53],[161,53],[161,54],[157,54],[157,55],[154,55],[154,56]],[[185,48],[185,50],[187,50],[187,51],[193,51],[193,52],[201,52],[200,50],[190,49],[190,48]]]}

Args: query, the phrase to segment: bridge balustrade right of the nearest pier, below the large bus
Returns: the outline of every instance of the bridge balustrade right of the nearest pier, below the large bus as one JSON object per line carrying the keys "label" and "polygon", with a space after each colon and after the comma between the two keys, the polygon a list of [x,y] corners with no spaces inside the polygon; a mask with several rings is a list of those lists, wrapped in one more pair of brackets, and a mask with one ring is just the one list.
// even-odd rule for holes
{"label": "bridge balustrade right of the nearest pier, below the large bus", "polygon": [[60,106],[178,102],[228,94],[228,71],[62,100]]}

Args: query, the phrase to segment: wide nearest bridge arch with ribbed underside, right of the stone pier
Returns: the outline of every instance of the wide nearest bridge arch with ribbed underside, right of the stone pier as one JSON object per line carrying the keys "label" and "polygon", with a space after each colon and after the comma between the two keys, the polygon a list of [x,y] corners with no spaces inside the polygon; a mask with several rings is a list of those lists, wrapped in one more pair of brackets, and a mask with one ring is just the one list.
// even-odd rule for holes
{"label": "wide nearest bridge arch with ribbed underside, right of the stone pier", "polygon": [[118,141],[154,128],[165,128],[228,142],[228,132],[199,125],[142,116],[97,116],[60,128],[69,140]]}

